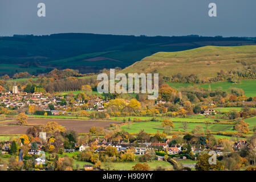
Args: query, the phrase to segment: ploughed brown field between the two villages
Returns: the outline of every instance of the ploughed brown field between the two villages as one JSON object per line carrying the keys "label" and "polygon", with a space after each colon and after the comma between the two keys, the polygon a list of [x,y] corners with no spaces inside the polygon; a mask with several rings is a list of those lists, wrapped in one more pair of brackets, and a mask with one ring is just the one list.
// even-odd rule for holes
{"label": "ploughed brown field between the two villages", "polygon": [[[78,133],[88,133],[92,126],[99,126],[107,128],[110,123],[120,123],[115,121],[84,121],[76,119],[40,119],[29,118],[27,124],[29,125],[45,125],[47,122],[54,121],[66,129],[73,129]],[[26,134],[27,129],[32,126],[17,126],[8,125],[9,123],[17,123],[16,119],[13,121],[0,122],[0,134]]]}

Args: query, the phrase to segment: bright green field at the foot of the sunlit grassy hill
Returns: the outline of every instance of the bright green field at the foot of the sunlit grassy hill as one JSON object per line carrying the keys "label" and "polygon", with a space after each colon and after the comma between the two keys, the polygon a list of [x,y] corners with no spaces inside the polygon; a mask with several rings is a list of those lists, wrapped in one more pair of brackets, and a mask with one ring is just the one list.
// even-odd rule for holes
{"label": "bright green field at the foot of the sunlit grassy hill", "polygon": [[229,88],[235,87],[235,88],[243,89],[243,91],[245,92],[245,96],[247,96],[247,97],[256,96],[256,91],[255,91],[256,90],[256,80],[241,80],[241,83],[239,83],[239,84],[233,84],[228,81],[221,81],[221,82],[215,82],[212,84],[201,84],[201,85],[168,82],[168,85],[170,87],[173,87],[176,89],[179,89],[181,87],[187,87],[187,86],[197,86],[200,88],[208,89],[209,85],[210,85],[212,90],[220,89],[220,90],[224,90],[224,91],[228,91]]}

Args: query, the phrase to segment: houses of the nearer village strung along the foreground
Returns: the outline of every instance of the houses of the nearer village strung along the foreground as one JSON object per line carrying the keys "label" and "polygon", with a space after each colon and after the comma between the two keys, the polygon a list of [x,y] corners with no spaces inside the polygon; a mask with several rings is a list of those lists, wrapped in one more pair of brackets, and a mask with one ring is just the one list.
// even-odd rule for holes
{"label": "houses of the nearer village strung along the foreground", "polygon": [[[124,142],[124,140],[118,140],[118,141],[115,140],[111,142],[107,142],[106,140],[103,140],[102,142],[99,142],[98,139],[95,139],[95,143],[97,146],[95,152],[104,152],[105,148],[108,146],[116,147],[117,152],[123,152],[123,153],[126,152],[128,149],[133,148],[135,155],[144,155],[147,153],[148,150],[152,148],[161,148],[161,150],[165,151],[167,154],[170,154],[170,155],[179,154],[182,150],[184,150],[183,148],[184,144],[169,145],[170,140],[172,139],[166,139],[165,142],[155,142],[155,143],[137,142],[136,144],[133,144],[133,143]],[[2,154],[6,154],[6,152],[10,152],[11,142],[3,142],[3,143],[4,144],[2,148],[0,148],[0,150],[2,151]],[[42,143],[36,142],[36,144],[37,144],[37,148],[32,148],[32,144],[31,143],[29,144],[31,148],[29,149],[27,154],[38,156],[38,158],[35,158],[35,164],[38,164],[38,165],[45,164],[46,160],[40,157],[41,154],[43,154]],[[243,140],[243,141],[235,142],[234,148],[239,149],[241,147],[245,147],[246,145],[247,145],[247,142]],[[80,146],[78,143],[76,143],[75,146],[77,148],[76,150],[78,150],[79,152],[83,152],[84,150],[86,150],[86,148],[91,146],[91,143],[82,144]],[[200,144],[192,144],[191,148],[193,153],[200,153],[201,151],[206,150],[206,148],[202,147]],[[72,153],[72,152],[75,152],[76,150],[65,148],[64,152]],[[212,150],[216,151],[216,154],[218,156],[222,156],[223,155],[222,151],[224,150],[224,147],[221,145],[217,145],[217,146],[214,146]],[[185,156],[183,158],[186,159]],[[156,156],[156,160],[164,160],[164,156]],[[85,164],[83,167],[84,167],[84,170],[93,169],[93,166],[90,164]]]}

